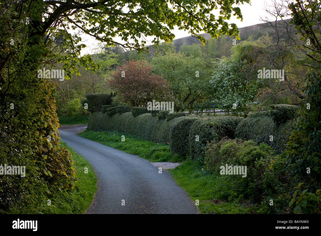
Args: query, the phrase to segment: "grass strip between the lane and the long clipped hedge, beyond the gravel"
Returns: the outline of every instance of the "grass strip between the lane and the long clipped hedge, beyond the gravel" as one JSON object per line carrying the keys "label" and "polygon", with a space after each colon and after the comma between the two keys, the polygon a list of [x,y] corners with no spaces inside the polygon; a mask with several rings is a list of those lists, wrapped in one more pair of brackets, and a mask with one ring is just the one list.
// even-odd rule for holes
{"label": "grass strip between the lane and the long clipped hedge, beyond the gravel", "polygon": [[118,132],[94,132],[85,130],[79,136],[88,138],[98,143],[122,150],[129,154],[138,155],[150,162],[181,162],[182,158],[175,154],[172,155],[167,144],[152,143],[143,139],[137,139],[133,135],[122,135]]}

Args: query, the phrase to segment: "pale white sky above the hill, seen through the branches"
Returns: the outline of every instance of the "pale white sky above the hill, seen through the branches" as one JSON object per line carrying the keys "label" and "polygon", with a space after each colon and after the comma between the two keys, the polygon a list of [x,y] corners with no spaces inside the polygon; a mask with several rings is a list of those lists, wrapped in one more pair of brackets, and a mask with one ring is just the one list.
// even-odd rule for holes
{"label": "pale white sky above the hill, seen through the branches", "polygon": [[[236,23],[238,28],[262,23],[261,17],[263,19],[265,17],[270,18],[268,13],[266,13],[265,11],[265,6],[268,7],[268,5],[271,5],[271,4],[272,4],[272,0],[251,0],[251,4],[247,4],[247,3],[243,5],[240,4],[239,8],[241,9],[241,13],[243,15],[243,21],[236,19],[236,17],[232,15],[231,19],[227,22]],[[215,15],[218,15],[218,14],[215,14]],[[273,18],[270,18],[270,20],[273,20]],[[172,30],[172,33],[175,34],[175,39],[190,36],[190,34],[187,31],[178,30],[178,27],[175,27],[174,30]],[[205,33],[205,32],[200,32],[200,33]],[[81,51],[82,55],[87,53],[93,54],[97,51],[98,45],[100,43],[99,41],[97,41],[96,39],[94,39],[93,37],[87,34],[82,34],[81,38],[82,38],[82,43],[87,45],[86,48],[82,49]],[[120,37],[119,38],[115,37],[114,40],[117,42],[124,42],[120,39]]]}

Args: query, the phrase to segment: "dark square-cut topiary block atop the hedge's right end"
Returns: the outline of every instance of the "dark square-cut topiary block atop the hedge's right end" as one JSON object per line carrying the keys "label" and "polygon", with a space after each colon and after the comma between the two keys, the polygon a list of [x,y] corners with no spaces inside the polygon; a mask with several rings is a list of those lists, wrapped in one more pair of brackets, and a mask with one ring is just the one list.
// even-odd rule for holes
{"label": "dark square-cut topiary block atop the hedge's right end", "polygon": [[277,124],[284,124],[288,120],[292,120],[297,117],[298,107],[295,105],[287,105],[287,104],[277,104],[270,105],[271,116],[273,121]]}

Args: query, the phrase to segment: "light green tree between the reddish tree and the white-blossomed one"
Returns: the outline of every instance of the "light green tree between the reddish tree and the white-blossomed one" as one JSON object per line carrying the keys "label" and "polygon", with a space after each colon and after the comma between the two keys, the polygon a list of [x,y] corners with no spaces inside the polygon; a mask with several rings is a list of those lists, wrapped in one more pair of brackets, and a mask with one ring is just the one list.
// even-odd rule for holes
{"label": "light green tree between the reddish tree and the white-blossomed one", "polygon": [[211,91],[209,79],[213,60],[187,57],[181,53],[168,53],[152,58],[153,72],[163,76],[170,84],[178,104],[175,111],[190,112],[193,105],[204,102]]}

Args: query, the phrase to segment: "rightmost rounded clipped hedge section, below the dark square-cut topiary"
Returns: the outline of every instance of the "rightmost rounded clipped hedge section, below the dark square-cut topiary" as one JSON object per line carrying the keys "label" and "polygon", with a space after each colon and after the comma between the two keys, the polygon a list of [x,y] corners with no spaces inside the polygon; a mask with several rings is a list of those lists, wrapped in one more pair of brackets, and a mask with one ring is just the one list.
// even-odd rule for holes
{"label": "rightmost rounded clipped hedge section, below the dark square-cut topiary", "polygon": [[[273,147],[277,153],[281,153],[286,146],[283,145],[291,132],[291,121],[278,125],[273,121],[275,116],[273,111],[256,112],[249,114],[246,119],[241,121],[235,130],[237,138],[253,140],[257,144],[265,143]],[[273,141],[270,141],[270,135]]]}

